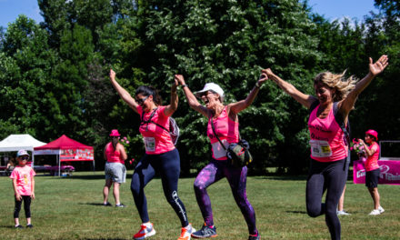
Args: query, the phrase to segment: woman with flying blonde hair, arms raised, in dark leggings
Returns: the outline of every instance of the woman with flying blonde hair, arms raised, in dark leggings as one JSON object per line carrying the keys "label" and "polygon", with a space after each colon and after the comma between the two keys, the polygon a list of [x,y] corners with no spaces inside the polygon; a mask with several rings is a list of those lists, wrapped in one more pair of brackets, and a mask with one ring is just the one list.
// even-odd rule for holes
{"label": "woman with flying blonde hair, arms raised, in dark leggings", "polygon": [[[382,55],[373,63],[369,58],[369,72],[357,81],[353,76],[345,80],[344,75],[324,72],[315,76],[315,95],[306,95],[275,75],[271,69],[263,73],[291,95],[297,102],[311,110],[308,120],[311,145],[310,174],[306,185],[307,213],[312,217],[325,215],[325,222],[332,239],[340,239],[340,222],[336,215],[336,206],[345,187],[348,161],[347,145],[344,140],[344,127],[348,115],[354,108],[357,96],[388,65],[388,58]],[[337,106],[337,107],[335,107]],[[335,111],[334,111],[335,110]],[[336,119],[341,119],[337,122]],[[322,196],[327,192],[325,204]]]}

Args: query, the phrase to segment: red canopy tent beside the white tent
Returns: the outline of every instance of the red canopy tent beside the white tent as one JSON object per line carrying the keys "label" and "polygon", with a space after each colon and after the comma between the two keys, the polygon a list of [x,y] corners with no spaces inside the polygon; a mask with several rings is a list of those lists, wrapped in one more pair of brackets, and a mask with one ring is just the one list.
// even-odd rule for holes
{"label": "red canopy tent beside the white tent", "polygon": [[57,155],[59,175],[61,162],[93,161],[95,167],[93,146],[83,145],[66,135],[62,135],[46,145],[35,147],[34,155]]}

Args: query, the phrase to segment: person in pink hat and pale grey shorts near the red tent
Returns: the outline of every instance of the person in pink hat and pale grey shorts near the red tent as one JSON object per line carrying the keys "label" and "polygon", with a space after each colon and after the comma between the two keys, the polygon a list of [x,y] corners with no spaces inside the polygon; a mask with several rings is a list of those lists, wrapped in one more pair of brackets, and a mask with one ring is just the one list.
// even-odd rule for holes
{"label": "person in pink hat and pale grey shorts near the red tent", "polygon": [[125,183],[126,179],[126,167],[125,160],[127,158],[125,147],[119,143],[120,134],[118,130],[111,130],[111,142],[105,145],[104,156],[105,160],[105,187],[103,188],[104,204],[105,206],[111,206],[108,202],[108,193],[111,185],[113,187],[113,195],[115,198],[116,207],[125,207],[119,201],[119,186]]}

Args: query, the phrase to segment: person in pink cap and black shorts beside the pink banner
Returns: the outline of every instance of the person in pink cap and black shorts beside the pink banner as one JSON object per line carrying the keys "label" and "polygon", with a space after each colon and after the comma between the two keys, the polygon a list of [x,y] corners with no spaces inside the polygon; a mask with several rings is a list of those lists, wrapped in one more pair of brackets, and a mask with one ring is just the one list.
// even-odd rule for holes
{"label": "person in pink cap and black shorts beside the pink banner", "polygon": [[380,204],[380,195],[378,193],[378,181],[381,170],[378,165],[380,148],[376,143],[378,141],[378,133],[369,129],[365,132],[365,142],[358,139],[358,143],[364,145],[366,161],[365,161],[365,186],[368,187],[369,194],[374,201],[374,210],[369,215],[380,215],[385,209]]}

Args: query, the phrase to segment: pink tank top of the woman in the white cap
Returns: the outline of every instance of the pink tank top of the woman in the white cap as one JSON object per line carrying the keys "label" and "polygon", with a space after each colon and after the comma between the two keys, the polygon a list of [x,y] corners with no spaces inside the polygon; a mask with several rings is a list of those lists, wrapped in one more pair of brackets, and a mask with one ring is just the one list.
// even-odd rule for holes
{"label": "pink tank top of the woman in the white cap", "polygon": [[231,143],[239,142],[239,123],[229,118],[226,112],[226,106],[218,118],[213,119],[213,117],[210,117],[208,119],[207,135],[208,138],[210,138],[213,158],[216,160],[226,160],[226,151],[219,143],[218,139],[216,139],[211,121],[214,123],[215,134],[218,135],[221,142],[225,145],[225,148]]}

